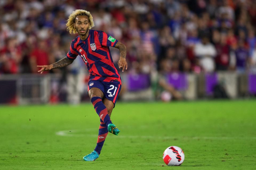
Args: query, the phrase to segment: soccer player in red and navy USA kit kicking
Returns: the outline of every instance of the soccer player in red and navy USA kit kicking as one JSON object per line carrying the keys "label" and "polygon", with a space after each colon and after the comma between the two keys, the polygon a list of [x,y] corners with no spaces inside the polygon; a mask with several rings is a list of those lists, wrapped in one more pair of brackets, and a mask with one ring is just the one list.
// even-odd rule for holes
{"label": "soccer player in red and navy USA kit kicking", "polygon": [[70,45],[66,57],[51,65],[41,67],[38,72],[43,73],[51,69],[65,67],[71,64],[77,56],[85,62],[90,72],[88,94],[95,111],[100,117],[97,145],[93,152],[83,157],[85,161],[94,161],[99,158],[101,149],[108,132],[118,135],[119,129],[111,122],[110,115],[115,107],[118,94],[121,90],[121,77],[114,66],[109,46],[120,51],[119,69],[127,69],[126,46],[114,37],[103,31],[92,30],[93,17],[85,10],[75,10],[67,20],[67,30],[78,33]]}

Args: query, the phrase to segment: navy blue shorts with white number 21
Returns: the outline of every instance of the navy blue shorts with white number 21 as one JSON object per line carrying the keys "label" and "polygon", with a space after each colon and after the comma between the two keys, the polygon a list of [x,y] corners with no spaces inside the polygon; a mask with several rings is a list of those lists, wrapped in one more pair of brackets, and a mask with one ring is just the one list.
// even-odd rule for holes
{"label": "navy blue shorts with white number 21", "polygon": [[88,82],[88,91],[93,87],[99,88],[103,92],[105,98],[113,101],[115,107],[117,97],[119,95],[119,92],[121,91],[121,84],[119,84],[119,82],[103,82],[100,80],[90,80]]}

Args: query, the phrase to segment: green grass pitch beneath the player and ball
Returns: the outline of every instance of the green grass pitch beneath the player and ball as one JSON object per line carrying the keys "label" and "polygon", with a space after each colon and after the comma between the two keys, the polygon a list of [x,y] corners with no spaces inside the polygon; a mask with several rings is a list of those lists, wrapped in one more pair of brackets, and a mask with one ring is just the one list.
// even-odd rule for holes
{"label": "green grass pitch beneath the player and ball", "polygon": [[[100,157],[93,151],[99,117],[92,104],[0,106],[0,169],[255,169],[256,101],[117,102]],[[185,160],[162,159],[179,146]]]}

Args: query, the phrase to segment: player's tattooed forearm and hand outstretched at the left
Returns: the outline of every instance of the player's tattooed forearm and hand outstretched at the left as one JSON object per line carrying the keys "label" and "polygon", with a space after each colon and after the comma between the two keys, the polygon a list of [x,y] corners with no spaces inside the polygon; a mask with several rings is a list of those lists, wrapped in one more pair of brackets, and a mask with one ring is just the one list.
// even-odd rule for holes
{"label": "player's tattooed forearm and hand outstretched at the left", "polygon": [[41,70],[39,70],[37,72],[41,72],[41,74],[42,74],[44,71],[49,71],[51,69],[58,69],[61,67],[65,67],[65,66],[73,63],[73,61],[74,60],[69,60],[67,57],[64,57],[60,61],[57,61],[56,63],[53,63],[51,65],[37,66],[37,67],[41,67]]}

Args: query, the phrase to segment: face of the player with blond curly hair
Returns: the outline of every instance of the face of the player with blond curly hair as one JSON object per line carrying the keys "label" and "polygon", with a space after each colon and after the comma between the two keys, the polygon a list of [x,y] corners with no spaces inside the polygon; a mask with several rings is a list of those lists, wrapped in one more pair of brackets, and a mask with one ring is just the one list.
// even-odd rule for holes
{"label": "face of the player with blond curly hair", "polygon": [[86,15],[78,15],[75,18],[74,27],[77,30],[78,34],[81,36],[86,35],[89,31],[89,18]]}

